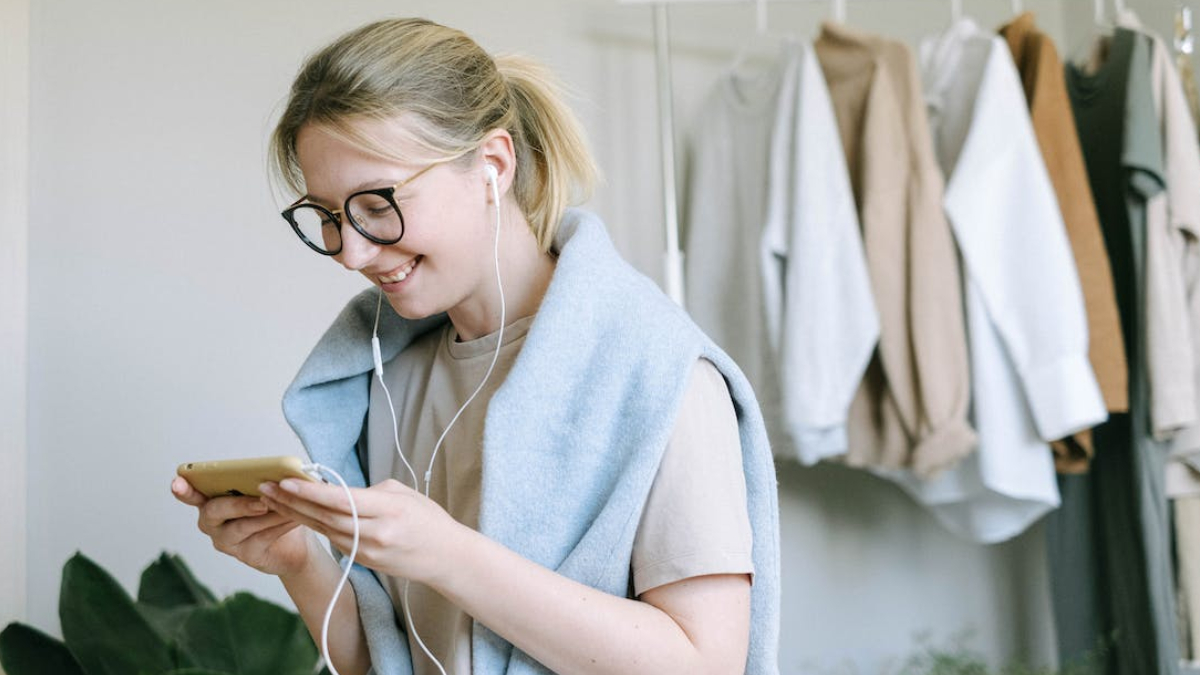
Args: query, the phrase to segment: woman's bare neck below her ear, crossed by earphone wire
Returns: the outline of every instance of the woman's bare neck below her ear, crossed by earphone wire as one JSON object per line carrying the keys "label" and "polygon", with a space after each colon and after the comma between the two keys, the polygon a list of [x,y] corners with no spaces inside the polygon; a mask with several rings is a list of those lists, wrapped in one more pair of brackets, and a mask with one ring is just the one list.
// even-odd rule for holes
{"label": "woman's bare neck below her ear, crossed by earphone wire", "polygon": [[[533,316],[550,287],[554,258],[538,249],[538,240],[521,210],[510,207],[502,215],[500,277],[504,283],[504,322]],[[487,273],[475,291],[449,310],[450,322],[462,340],[474,340],[500,329],[500,293],[488,246]]]}

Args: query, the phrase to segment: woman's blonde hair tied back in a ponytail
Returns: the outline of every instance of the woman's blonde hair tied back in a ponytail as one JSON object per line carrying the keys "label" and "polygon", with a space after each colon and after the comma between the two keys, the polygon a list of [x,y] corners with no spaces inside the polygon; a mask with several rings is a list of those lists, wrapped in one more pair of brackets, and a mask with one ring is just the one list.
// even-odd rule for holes
{"label": "woman's blonde hair tied back in a ponytail", "polygon": [[545,67],[522,56],[492,59],[464,32],[426,19],[367,24],[308,58],[271,135],[272,173],[305,192],[296,136],[308,124],[374,155],[412,161],[354,125],[396,118],[430,162],[461,157],[490,131],[508,131],[512,192],[542,251],[566,207],[586,199],[595,183],[582,126]]}

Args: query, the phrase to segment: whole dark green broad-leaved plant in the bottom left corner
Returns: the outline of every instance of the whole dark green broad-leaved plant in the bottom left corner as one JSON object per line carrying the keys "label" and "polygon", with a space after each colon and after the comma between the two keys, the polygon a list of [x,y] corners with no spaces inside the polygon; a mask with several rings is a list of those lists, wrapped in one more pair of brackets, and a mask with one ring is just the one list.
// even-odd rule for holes
{"label": "whole dark green broad-leaved plant in the bottom left corner", "polygon": [[137,599],[83,554],[62,568],[62,640],[23,623],[0,632],[8,675],[312,675],[317,647],[300,617],[250,593],[218,601],[184,561],[162,554]]}

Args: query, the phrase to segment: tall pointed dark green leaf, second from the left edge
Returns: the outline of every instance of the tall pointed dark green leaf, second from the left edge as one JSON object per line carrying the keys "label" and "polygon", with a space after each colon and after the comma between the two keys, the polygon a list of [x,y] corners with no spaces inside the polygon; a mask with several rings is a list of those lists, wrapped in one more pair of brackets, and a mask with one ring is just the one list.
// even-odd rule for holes
{"label": "tall pointed dark green leaf, second from the left edge", "polygon": [[170,646],[98,565],[76,554],[62,567],[62,638],[88,675],[162,673],[175,668]]}

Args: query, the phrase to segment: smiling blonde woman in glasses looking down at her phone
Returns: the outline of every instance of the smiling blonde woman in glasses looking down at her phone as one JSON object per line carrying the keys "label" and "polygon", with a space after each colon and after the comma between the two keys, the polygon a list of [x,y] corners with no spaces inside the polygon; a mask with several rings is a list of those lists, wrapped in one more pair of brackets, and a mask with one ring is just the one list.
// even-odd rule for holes
{"label": "smiling blonde woman in glasses looking down at her phone", "polygon": [[[594,169],[546,78],[460,31],[384,20],[312,56],[275,130],[302,195],[284,219],[373,286],[284,396],[313,460],[368,485],[328,657],[344,675],[778,673],[757,405],[566,208]],[[341,569],[314,533],[349,551],[350,504],[336,485],[262,489],[172,484],[319,637]]]}

